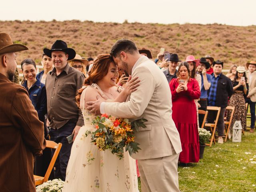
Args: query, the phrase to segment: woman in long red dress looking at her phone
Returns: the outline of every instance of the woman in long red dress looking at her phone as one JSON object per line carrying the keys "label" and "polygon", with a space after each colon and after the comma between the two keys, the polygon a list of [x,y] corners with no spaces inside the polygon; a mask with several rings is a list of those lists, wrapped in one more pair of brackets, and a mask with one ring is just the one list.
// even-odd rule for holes
{"label": "woman in long red dress looking at her phone", "polygon": [[194,99],[200,97],[200,89],[196,79],[190,78],[187,62],[179,64],[178,78],[172,79],[172,119],[180,133],[182,152],[180,163],[199,161],[199,136]]}

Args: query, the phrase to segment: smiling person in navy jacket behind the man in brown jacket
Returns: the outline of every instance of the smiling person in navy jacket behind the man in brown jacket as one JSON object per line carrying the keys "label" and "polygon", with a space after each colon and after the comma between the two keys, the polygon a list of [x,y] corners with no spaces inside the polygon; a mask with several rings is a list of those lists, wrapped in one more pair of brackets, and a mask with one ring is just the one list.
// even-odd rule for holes
{"label": "smiling person in navy jacket behind the man in brown jacket", "polygon": [[[24,86],[24,88],[26,88],[26,90],[28,91],[29,98],[38,113],[39,120],[44,123],[44,138],[46,140],[49,140],[46,120],[44,117],[47,113],[46,89],[44,84],[42,84],[39,79],[36,79],[36,63],[32,59],[25,59],[21,62],[21,69],[24,78],[26,78],[22,86]],[[34,164],[34,174],[38,176],[44,176],[50,164],[51,158],[52,152],[49,148],[43,150],[42,156],[36,156]],[[51,176],[50,179],[52,179]]]}

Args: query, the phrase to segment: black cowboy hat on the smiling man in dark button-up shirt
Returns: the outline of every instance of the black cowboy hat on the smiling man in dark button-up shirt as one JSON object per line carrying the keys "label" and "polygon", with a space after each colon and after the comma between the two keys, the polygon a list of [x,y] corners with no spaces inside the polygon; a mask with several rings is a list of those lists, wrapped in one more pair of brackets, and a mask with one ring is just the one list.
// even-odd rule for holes
{"label": "black cowboy hat on the smiling man in dark button-up shirt", "polygon": [[68,48],[66,42],[62,40],[56,40],[56,42],[52,45],[52,49],[44,48],[44,54],[48,57],[52,58],[53,51],[63,51],[68,54],[68,60],[74,59],[76,56],[76,52],[72,48]]}

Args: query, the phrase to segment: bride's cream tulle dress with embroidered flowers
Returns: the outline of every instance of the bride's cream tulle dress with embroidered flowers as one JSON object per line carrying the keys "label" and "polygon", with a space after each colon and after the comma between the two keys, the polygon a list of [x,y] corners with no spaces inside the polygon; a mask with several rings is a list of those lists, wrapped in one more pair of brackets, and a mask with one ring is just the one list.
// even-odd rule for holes
{"label": "bride's cream tulle dress with embroidered flowers", "polygon": [[[97,84],[91,87],[105,96]],[[125,152],[124,158],[119,160],[109,150],[99,151],[91,143],[90,135],[85,136],[87,130],[94,131],[91,124],[94,116],[84,109],[82,103],[87,88],[84,88],[80,100],[84,126],[73,143],[62,192],[139,192],[136,162],[129,153]]]}

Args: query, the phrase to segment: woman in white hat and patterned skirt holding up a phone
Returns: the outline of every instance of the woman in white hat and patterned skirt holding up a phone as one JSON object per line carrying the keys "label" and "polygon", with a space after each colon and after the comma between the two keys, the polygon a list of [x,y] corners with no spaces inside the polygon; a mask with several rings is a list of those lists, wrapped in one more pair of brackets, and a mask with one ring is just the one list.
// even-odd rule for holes
{"label": "woman in white hat and patterned skirt holding up a phone", "polygon": [[[231,131],[229,137],[231,137],[232,127],[234,122],[237,120],[241,121],[243,130],[246,130],[246,108],[245,108],[245,98],[248,95],[248,83],[246,78],[246,69],[244,66],[238,66],[236,68],[236,74],[234,80],[232,81],[234,93],[230,97],[229,106],[235,107],[234,116],[231,123]],[[230,112],[228,112],[228,119],[230,118]]]}

